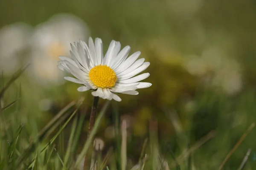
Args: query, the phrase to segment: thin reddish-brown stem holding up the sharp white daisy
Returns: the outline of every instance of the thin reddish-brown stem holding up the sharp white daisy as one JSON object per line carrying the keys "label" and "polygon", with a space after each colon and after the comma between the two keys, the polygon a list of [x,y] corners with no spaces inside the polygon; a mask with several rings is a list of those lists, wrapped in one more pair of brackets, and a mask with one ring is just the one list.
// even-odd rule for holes
{"label": "thin reddish-brown stem holding up the sharp white daisy", "polygon": [[[96,97],[93,98],[93,106],[92,106],[91,113],[90,113],[90,122],[89,122],[89,129],[88,129],[87,138],[89,137],[90,132],[91,132],[91,130],[94,126],[94,123],[95,123],[98,103],[99,103],[99,97],[96,96]],[[84,170],[87,170],[90,167],[89,162],[90,162],[90,159],[88,159],[88,155],[85,155],[85,157],[84,157]]]}

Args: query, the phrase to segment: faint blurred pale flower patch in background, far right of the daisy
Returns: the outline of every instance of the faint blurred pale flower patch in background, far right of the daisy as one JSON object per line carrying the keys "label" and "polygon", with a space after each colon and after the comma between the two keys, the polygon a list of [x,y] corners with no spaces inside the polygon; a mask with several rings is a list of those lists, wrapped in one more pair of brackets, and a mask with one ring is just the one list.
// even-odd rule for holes
{"label": "faint blurred pale flower patch in background, far right of the daisy", "polygon": [[210,85],[222,88],[227,94],[235,94],[242,88],[239,63],[219,48],[207,48],[201,56],[187,57],[184,67],[190,74],[206,77]]}

